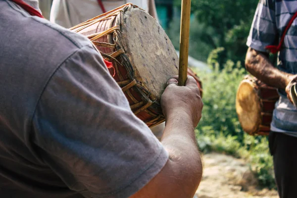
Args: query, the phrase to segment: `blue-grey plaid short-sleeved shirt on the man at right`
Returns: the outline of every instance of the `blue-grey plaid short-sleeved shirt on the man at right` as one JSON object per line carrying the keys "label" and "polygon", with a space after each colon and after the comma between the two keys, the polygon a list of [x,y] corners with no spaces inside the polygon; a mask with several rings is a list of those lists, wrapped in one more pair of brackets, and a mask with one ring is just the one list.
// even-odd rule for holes
{"label": "blue-grey plaid short-sleeved shirt on the man at right", "polygon": [[[254,15],[247,46],[267,52],[268,45],[278,45],[288,22],[297,12],[297,0],[260,0]],[[288,30],[278,54],[278,68],[297,74],[297,20]],[[285,90],[279,90],[271,130],[297,137],[297,109],[287,99]]]}

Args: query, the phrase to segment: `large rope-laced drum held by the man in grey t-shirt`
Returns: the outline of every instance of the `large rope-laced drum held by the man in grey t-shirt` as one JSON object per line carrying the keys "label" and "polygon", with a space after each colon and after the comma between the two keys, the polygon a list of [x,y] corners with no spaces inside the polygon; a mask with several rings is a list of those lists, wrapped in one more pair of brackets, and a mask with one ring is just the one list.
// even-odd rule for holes
{"label": "large rope-laced drum held by the man in grey t-shirt", "polygon": [[87,36],[112,63],[109,72],[137,117],[149,127],[165,121],[160,98],[178,75],[178,56],[155,19],[128,3],[71,30]]}

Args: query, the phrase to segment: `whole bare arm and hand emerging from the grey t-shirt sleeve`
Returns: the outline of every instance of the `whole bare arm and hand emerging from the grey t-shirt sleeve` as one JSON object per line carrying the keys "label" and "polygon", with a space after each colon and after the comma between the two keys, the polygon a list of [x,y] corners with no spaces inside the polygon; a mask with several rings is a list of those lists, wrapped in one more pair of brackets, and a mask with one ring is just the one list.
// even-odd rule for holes
{"label": "whole bare arm and hand emerging from the grey t-shirt sleeve", "polygon": [[163,169],[130,198],[193,198],[202,177],[194,129],[201,118],[202,100],[195,79],[186,86],[170,79],[161,105],[166,127],[161,143],[169,153]]}

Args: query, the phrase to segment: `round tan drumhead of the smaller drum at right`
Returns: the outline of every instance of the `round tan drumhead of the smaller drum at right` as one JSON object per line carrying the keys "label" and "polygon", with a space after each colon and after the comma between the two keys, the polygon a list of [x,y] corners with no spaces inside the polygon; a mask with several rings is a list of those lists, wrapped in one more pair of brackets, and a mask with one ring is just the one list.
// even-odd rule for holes
{"label": "round tan drumhead of the smaller drum at right", "polygon": [[261,123],[260,98],[254,85],[249,80],[244,80],[239,85],[236,96],[236,112],[245,132],[253,134]]}

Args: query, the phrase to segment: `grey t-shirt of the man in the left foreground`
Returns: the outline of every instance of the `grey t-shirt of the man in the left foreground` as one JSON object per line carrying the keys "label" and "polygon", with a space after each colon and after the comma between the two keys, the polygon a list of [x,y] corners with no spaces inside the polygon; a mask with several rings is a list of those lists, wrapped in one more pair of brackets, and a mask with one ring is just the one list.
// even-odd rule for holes
{"label": "grey t-shirt of the man in the left foreground", "polygon": [[139,191],[168,153],[90,41],[9,0],[0,8],[0,197]]}

